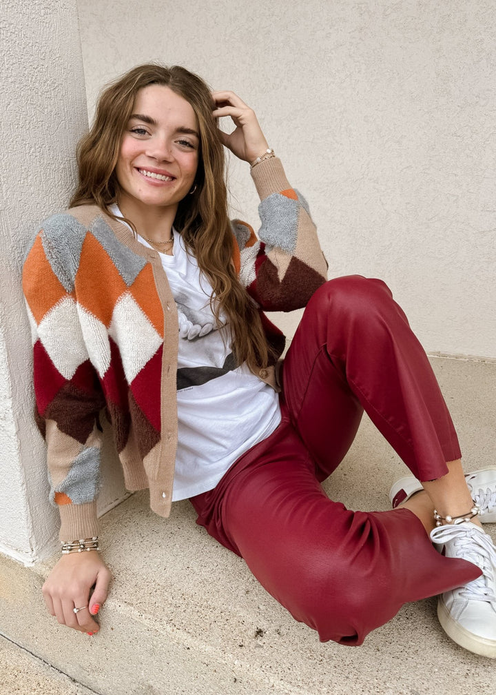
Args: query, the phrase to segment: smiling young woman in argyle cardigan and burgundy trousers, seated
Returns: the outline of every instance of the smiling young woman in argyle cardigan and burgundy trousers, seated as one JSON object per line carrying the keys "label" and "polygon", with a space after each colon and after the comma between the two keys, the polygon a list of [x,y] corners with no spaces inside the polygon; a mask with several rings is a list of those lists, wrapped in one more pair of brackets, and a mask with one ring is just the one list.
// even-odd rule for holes
{"label": "smiling young woman in argyle cardigan and burgundy trousers, seated", "polygon": [[[229,221],[224,147],[250,164],[258,238]],[[496,520],[496,471],[465,479],[429,361],[388,288],[325,281],[306,203],[254,112],[181,67],[140,65],[101,95],[78,169],[71,209],[44,222],[24,268],[62,520],[49,612],[99,630],[105,409],[126,486],[149,488],[161,516],[190,498],[322,641],[361,644],[405,602],[441,594],[450,637],[495,657],[496,552],[480,521]],[[307,304],[281,368],[284,338],[263,310]],[[390,512],[349,511],[320,486],[363,409],[415,476],[395,486]]]}

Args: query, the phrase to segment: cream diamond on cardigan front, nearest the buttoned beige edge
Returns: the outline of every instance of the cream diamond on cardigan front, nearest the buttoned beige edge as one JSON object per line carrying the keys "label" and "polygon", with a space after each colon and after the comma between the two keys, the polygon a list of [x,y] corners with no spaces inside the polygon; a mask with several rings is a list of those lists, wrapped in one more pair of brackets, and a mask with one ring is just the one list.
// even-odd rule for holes
{"label": "cream diamond on cardigan front, nearest the buttoned beige edge", "polygon": [[119,346],[128,384],[154,356],[162,338],[128,292],[115,305],[108,333]]}

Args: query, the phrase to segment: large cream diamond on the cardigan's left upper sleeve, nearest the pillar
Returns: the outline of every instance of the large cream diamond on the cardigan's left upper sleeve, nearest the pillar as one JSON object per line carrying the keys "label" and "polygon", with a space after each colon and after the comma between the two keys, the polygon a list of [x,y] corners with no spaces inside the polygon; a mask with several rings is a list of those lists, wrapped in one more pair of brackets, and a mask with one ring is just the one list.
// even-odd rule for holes
{"label": "large cream diamond on the cardigan's left upper sleeve, nearest the pillar", "polygon": [[76,302],[65,296],[45,314],[38,326],[45,350],[65,379],[72,379],[78,366],[88,359],[76,314]]}

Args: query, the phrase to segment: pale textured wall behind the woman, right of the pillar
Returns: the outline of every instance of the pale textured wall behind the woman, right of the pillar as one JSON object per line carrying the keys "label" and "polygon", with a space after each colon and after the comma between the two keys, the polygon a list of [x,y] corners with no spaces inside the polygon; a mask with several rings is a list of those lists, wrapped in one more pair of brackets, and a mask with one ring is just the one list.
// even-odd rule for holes
{"label": "pale textured wall behind the woman, right of the pillar", "polygon": [[[427,350],[496,358],[493,0],[81,0],[90,113],[136,63],[256,108],[331,275],[382,277]],[[256,220],[247,167],[236,215]]]}

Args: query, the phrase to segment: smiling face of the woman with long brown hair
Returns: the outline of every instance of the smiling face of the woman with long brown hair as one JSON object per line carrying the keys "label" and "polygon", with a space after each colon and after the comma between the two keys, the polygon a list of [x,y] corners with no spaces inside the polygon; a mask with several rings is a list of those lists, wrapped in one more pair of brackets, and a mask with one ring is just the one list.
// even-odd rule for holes
{"label": "smiling face of the woman with long brown hair", "polygon": [[199,145],[197,117],[188,101],[165,85],[141,89],[115,167],[126,217],[139,226],[155,208],[172,223],[195,181]]}

